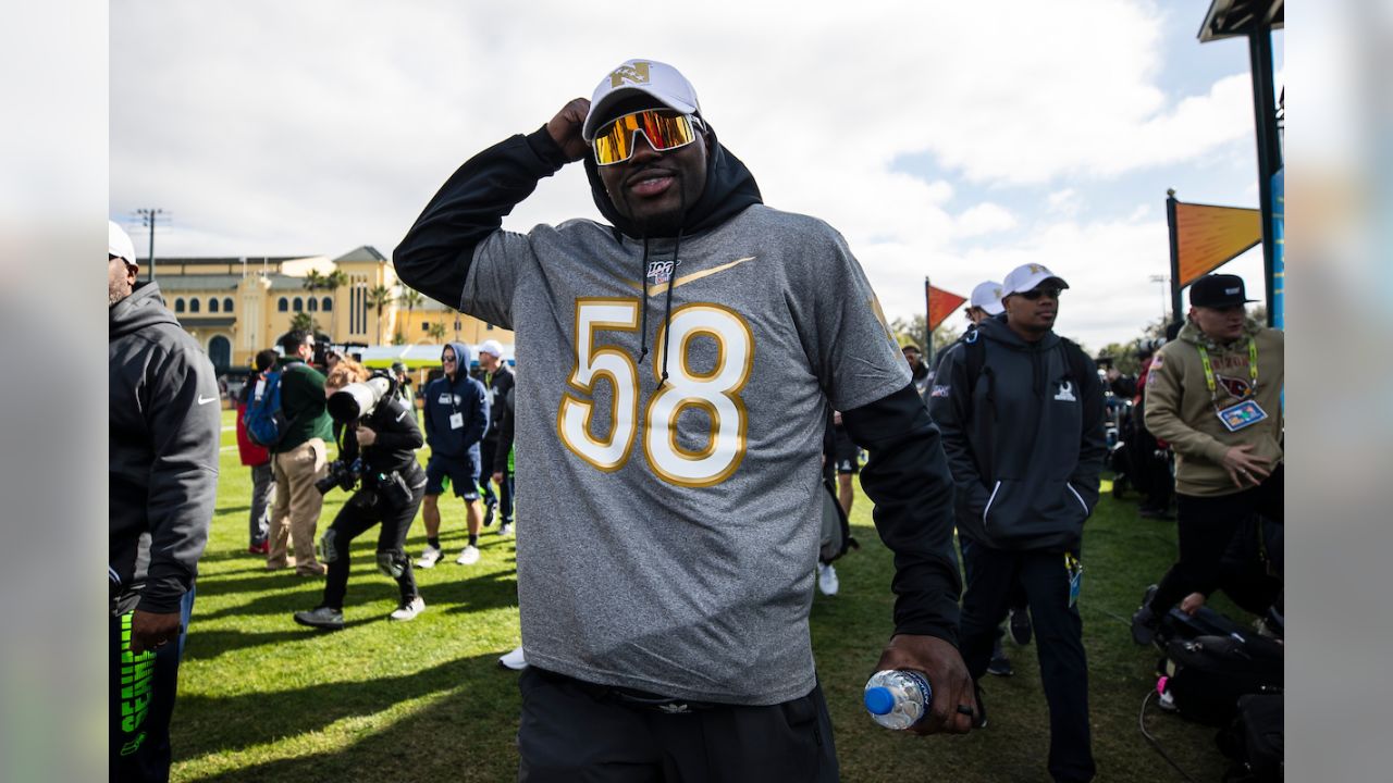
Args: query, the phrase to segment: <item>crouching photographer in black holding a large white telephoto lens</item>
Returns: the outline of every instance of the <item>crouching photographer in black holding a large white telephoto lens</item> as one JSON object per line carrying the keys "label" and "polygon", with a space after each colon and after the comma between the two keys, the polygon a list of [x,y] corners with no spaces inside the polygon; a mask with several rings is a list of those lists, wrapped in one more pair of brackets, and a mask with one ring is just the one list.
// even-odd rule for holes
{"label": "crouching photographer in black holding a large white telephoto lens", "polygon": [[344,594],[348,589],[348,548],[359,534],[382,522],[378,534],[378,568],[397,581],[401,602],[389,617],[411,620],[425,607],[405,555],[407,531],[425,495],[426,475],[417,461],[423,439],[412,412],[393,394],[383,375],[368,379],[368,371],[352,359],[341,359],[325,380],[329,414],[334,418],[338,461],[316,485],[320,492],[334,486],[358,489],[319,539],[319,557],[329,566],[325,596],[309,612],[295,612],[295,621],[312,628],[338,630],[344,626]]}

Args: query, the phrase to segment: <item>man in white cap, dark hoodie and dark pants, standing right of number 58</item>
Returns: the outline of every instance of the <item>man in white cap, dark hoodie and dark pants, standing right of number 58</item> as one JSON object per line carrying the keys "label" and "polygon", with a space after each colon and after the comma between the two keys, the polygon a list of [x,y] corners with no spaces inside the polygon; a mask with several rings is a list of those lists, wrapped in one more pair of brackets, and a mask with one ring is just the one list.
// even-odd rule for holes
{"label": "man in white cap, dark hoodie and dark pants, standing right of number 58", "polygon": [[978,681],[986,673],[1018,580],[1049,701],[1049,772],[1089,780],[1088,663],[1075,599],[1106,446],[1094,362],[1053,332],[1067,287],[1038,263],[1011,270],[1006,313],[944,354],[929,398],[958,489],[958,535],[974,548],[961,631],[968,672]]}

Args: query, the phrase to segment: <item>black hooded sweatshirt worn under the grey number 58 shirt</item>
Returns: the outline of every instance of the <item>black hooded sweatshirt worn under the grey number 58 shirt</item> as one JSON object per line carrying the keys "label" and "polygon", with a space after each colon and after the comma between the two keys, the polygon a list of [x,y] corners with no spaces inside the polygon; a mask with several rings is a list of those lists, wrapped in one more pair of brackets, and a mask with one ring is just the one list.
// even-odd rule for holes
{"label": "black hooded sweatshirt worn under the grey number 58 shirt", "polygon": [[[677,238],[676,245],[684,235],[720,226],[747,208],[763,203],[745,164],[717,141],[709,123],[706,128],[710,134],[706,187],[687,208],[680,227],[666,233]],[[589,156],[584,160],[591,195],[613,226],[617,241],[627,238],[646,247],[648,240],[666,238],[663,233],[645,235],[621,216],[605,192],[595,162]],[[446,180],[397,245],[393,252],[397,276],[442,304],[460,308],[478,244],[501,228],[503,217],[532,195],[542,177],[550,177],[567,163],[545,125],[475,155]],[[677,252],[673,247],[674,258]],[[645,270],[637,272],[644,279]],[[646,307],[644,316],[648,316]],[[667,354],[663,351],[664,357]],[[843,422],[851,439],[871,454],[861,485],[875,503],[880,539],[894,552],[896,633],[933,635],[957,644],[961,582],[953,550],[951,476],[937,428],[929,421],[912,383],[882,400],[844,411]]]}

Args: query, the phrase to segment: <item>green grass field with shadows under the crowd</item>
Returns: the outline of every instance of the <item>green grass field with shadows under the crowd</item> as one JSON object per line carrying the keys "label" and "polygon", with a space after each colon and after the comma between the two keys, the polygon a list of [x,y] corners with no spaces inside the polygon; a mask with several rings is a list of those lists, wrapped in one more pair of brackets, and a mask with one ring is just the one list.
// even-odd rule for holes
{"label": "green grass field with shadows under the crowd", "polygon": [[[496,659],[518,641],[511,539],[486,528],[478,566],[453,564],[464,545],[464,513],[442,503],[449,560],[418,571],[428,609],[390,623],[396,585],[373,567],[375,532],[354,546],[344,606],[347,628],[318,633],[291,613],[313,607],[322,580],[267,573],[247,555],[251,474],[238,464],[233,415],[224,412],[217,513],[199,567],[198,602],[174,713],[174,780],[513,780],[517,776],[517,673]],[[228,447],[230,446],[230,447]],[[1127,617],[1142,588],[1176,553],[1174,522],[1139,520],[1106,492],[1085,532],[1080,606],[1091,673],[1098,779],[1180,780],[1145,743],[1138,709],[1153,687],[1156,653],[1131,642]],[[525,492],[525,489],[524,489]],[[345,500],[326,497],[320,531]],[[520,535],[545,518],[518,517]],[[859,697],[890,626],[890,553],[859,495],[853,535],[861,550],[839,561],[841,592],[818,595],[812,641],[836,727],[841,777],[883,780],[1048,780],[1045,697],[1034,644],[1007,645],[1014,677],[985,683],[990,726],[965,737],[919,738],[880,729]],[[418,521],[408,541],[425,542]],[[1217,609],[1233,617],[1231,605]],[[1213,730],[1152,706],[1146,718],[1178,763],[1201,780],[1224,761]]]}

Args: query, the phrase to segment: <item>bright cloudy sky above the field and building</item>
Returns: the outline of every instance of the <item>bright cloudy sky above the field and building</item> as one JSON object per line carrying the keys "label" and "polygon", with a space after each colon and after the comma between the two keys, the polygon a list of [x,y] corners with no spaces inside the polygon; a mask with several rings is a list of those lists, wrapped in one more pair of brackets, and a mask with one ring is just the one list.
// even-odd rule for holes
{"label": "bright cloudy sky above the field and building", "polygon": [[[1258,206],[1248,50],[1209,0],[110,6],[110,203],[162,256],[390,255],[471,155],[670,63],[765,202],[830,223],[887,316],[1043,263],[1094,350],[1162,315],[1166,189]],[[1273,36],[1279,85],[1283,33]],[[579,166],[504,227],[593,217]],[[1262,259],[1224,272],[1261,298]],[[958,326],[961,319],[953,318]]]}

